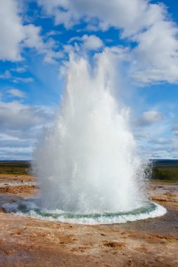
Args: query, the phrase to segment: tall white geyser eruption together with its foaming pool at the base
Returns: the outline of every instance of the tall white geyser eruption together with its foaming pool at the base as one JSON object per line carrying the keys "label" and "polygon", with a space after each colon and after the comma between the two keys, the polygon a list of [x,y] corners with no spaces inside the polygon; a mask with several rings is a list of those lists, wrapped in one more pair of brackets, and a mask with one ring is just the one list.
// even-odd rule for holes
{"label": "tall white geyser eruption together with its foaming pool at the base", "polygon": [[129,130],[129,112],[113,96],[112,71],[104,53],[92,71],[84,58],[70,60],[56,121],[34,151],[41,196],[15,203],[11,211],[90,224],[165,213],[144,196],[143,164]]}

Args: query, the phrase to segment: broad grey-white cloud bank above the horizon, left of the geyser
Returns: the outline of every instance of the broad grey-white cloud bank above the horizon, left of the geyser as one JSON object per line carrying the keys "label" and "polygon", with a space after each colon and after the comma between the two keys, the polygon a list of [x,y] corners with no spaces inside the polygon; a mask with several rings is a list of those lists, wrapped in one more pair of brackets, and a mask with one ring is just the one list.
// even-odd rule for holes
{"label": "broad grey-white cloud bank above the horizon, left of the geyser", "polygon": [[52,118],[47,107],[0,101],[1,159],[30,159],[37,136]]}

